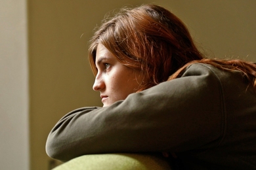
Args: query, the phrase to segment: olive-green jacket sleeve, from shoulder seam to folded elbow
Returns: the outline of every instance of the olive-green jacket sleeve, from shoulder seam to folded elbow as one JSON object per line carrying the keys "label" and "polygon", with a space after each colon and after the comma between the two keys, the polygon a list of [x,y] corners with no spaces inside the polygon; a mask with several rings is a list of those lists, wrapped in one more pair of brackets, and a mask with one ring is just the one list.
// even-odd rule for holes
{"label": "olive-green jacket sleeve, from shoulder seam to folded elbow", "polygon": [[223,133],[221,82],[191,65],[180,78],[133,93],[109,107],[64,116],[47,139],[47,154],[68,161],[84,154],[184,152],[216,145]]}

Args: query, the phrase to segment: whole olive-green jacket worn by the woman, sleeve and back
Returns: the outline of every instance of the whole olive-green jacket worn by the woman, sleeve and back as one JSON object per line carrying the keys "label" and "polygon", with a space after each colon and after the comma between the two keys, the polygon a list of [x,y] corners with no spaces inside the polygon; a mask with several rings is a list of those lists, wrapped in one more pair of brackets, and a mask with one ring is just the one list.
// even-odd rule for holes
{"label": "whole olive-green jacket worn by the woman, sleeve and back", "polygon": [[202,63],[110,107],[64,116],[46,144],[52,158],[175,152],[188,169],[256,169],[256,95],[239,71]]}

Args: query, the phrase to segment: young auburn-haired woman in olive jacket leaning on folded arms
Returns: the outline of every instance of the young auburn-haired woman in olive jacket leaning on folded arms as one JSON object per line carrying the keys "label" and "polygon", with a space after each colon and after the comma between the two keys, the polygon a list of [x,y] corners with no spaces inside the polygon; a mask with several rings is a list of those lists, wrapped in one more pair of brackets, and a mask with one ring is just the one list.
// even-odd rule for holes
{"label": "young auburn-haired woman in olive jacket leaning on folded arms", "polygon": [[103,107],[64,116],[47,154],[163,152],[186,169],[256,168],[256,65],[206,59],[177,16],[123,9],[96,31],[89,59]]}

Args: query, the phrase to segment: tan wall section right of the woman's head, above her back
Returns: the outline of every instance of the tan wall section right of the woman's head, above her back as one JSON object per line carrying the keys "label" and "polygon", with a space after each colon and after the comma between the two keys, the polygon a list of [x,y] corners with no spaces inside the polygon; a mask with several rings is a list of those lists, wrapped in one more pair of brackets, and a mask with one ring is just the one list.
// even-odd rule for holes
{"label": "tan wall section right of the woman's head, above her back", "polygon": [[256,62],[256,1],[171,0],[167,7],[182,18],[208,54]]}

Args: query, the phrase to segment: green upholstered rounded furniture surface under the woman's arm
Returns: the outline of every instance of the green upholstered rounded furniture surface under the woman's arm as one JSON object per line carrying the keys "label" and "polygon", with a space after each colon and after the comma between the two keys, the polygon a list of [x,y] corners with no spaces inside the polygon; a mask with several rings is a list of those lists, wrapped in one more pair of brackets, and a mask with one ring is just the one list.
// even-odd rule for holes
{"label": "green upholstered rounded furniture surface under the woman's arm", "polygon": [[163,158],[150,154],[93,154],[74,158],[54,170],[170,170]]}

